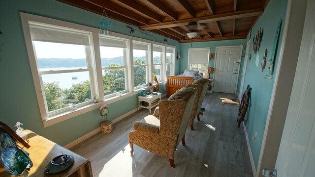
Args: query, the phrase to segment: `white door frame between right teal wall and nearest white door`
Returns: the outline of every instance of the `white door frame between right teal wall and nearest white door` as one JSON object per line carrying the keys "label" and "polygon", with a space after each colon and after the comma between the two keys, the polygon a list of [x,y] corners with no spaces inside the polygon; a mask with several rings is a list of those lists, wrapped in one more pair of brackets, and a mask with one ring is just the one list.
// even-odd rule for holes
{"label": "white door frame between right teal wall and nearest white door", "polygon": [[301,45],[306,3],[307,0],[288,0],[280,57],[255,177],[263,177],[263,168],[275,168]]}

